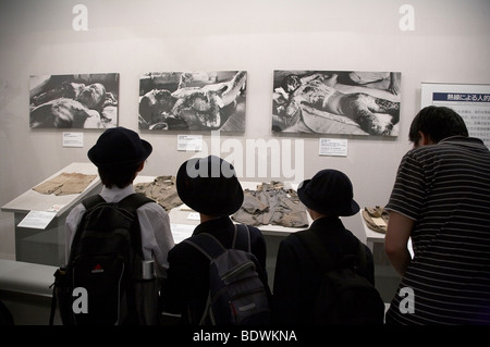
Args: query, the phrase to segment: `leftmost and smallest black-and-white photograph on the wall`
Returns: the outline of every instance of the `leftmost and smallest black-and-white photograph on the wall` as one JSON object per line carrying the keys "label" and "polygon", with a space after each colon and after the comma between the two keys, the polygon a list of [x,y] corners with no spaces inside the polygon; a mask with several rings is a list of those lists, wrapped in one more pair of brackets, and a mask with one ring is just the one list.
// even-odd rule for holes
{"label": "leftmost and smallest black-and-white photograph on the wall", "polygon": [[118,126],[118,73],[35,75],[29,84],[32,128]]}

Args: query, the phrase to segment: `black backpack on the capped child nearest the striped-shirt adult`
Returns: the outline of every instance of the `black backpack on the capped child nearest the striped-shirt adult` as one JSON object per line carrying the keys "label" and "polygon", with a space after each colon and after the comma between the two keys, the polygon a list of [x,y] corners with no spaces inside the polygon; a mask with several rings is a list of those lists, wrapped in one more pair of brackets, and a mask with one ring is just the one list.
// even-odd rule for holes
{"label": "black backpack on the capped child nearest the striped-shirt adult", "polygon": [[313,233],[296,234],[320,264],[322,278],[315,299],[313,321],[316,325],[382,325],[384,302],[367,280],[367,258],[357,239],[358,253],[333,261]]}

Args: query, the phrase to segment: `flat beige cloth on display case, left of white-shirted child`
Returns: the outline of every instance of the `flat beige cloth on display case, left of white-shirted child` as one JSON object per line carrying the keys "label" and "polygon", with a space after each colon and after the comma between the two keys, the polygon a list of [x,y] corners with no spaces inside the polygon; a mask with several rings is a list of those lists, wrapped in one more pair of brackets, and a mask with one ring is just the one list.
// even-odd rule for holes
{"label": "flat beige cloth on display case, left of white-shirted child", "polygon": [[57,196],[81,194],[96,177],[97,175],[62,172],[58,176],[37,185],[33,190]]}

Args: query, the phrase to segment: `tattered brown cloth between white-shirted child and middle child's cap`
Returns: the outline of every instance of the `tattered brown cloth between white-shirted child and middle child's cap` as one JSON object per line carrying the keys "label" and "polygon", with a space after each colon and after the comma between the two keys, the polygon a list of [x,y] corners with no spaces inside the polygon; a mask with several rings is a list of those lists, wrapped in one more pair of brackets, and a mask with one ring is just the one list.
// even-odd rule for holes
{"label": "tattered brown cloth between white-shirted child and middle child's cap", "polygon": [[135,184],[134,189],[160,203],[166,211],[183,203],[176,193],[175,176],[158,176],[152,182]]}

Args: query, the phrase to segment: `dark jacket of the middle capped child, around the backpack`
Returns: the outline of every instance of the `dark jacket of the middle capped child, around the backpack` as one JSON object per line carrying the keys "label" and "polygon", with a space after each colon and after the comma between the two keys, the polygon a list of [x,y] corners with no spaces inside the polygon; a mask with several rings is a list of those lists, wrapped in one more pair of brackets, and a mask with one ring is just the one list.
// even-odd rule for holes
{"label": "dark jacket of the middle capped child, around the backpack", "polygon": [[[194,230],[193,235],[208,233],[225,248],[231,248],[234,223],[229,216],[204,222]],[[258,262],[266,269],[266,240],[262,233],[254,226],[250,232],[250,249]],[[169,251],[169,270],[163,288],[163,311],[182,314],[182,323],[197,324],[209,292],[209,259],[186,243],[175,245]],[[267,285],[267,278],[265,278]]]}

